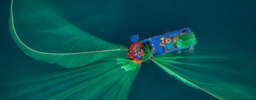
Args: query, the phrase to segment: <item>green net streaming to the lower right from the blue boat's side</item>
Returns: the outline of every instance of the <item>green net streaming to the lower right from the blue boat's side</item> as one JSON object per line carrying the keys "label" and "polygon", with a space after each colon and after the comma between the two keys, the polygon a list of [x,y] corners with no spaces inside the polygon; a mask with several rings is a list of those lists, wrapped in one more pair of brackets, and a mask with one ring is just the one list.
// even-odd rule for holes
{"label": "green net streaming to the lower right from the blue boat's side", "polygon": [[240,68],[246,60],[171,53],[157,56],[153,62],[181,82],[218,99],[255,99],[256,81],[251,76],[255,74]]}

